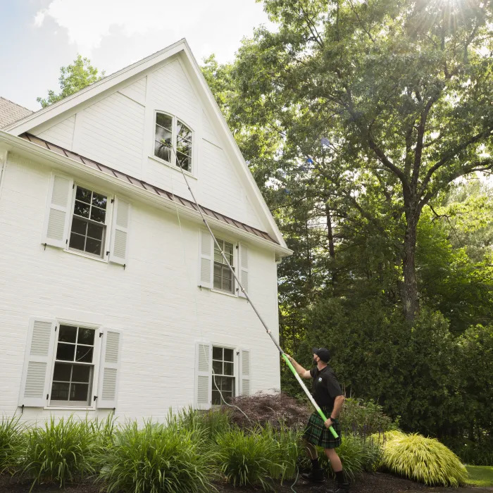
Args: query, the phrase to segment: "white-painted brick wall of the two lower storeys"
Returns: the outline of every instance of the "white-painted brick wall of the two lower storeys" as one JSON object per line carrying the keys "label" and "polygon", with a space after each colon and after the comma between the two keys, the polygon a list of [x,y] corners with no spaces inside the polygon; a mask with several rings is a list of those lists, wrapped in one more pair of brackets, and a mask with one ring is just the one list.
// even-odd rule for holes
{"label": "white-painted brick wall of the two lower storeys", "polygon": [[[17,408],[29,318],[56,318],[67,311],[81,323],[100,320],[123,332],[120,422],[163,419],[170,406],[193,403],[199,340],[248,348],[251,392],[279,388],[277,350],[251,306],[196,286],[198,225],[182,218],[180,231],[175,215],[132,203],[125,270],[60,249],[44,250],[40,204],[46,204],[50,173],[9,154],[0,197],[0,414],[11,416]],[[249,294],[277,335],[275,289],[273,254],[250,246]],[[49,414],[25,408],[23,418]]]}

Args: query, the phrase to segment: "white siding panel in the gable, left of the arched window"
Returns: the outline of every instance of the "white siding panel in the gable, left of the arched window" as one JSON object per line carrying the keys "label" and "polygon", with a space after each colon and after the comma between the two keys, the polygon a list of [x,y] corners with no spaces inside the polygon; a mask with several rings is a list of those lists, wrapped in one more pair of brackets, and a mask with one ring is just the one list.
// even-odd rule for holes
{"label": "white siding panel in the gable, left of the arched window", "polygon": [[129,175],[142,175],[144,107],[116,92],[86,108],[79,153]]}

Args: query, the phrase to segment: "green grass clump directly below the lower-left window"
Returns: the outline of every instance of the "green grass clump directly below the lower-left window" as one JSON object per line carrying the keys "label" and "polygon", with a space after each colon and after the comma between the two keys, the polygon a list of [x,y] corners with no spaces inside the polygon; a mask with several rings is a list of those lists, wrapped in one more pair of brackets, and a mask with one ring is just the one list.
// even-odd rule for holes
{"label": "green grass clump directly below the lower-left window", "polygon": [[[51,417],[42,426],[25,432],[25,451],[20,458],[21,474],[41,482],[65,482],[92,475],[100,453],[97,433],[87,420]],[[32,489],[32,488],[31,488]]]}

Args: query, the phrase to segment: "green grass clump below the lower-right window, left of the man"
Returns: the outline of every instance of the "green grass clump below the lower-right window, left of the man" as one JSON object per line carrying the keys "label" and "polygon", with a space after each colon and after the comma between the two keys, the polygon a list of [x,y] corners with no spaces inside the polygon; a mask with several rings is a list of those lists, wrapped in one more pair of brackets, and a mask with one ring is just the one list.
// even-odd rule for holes
{"label": "green grass clump below the lower-right window, left of the man", "polygon": [[277,444],[269,432],[232,428],[218,437],[216,461],[221,472],[235,486],[260,485],[273,489],[270,472],[279,473],[282,464],[275,463]]}

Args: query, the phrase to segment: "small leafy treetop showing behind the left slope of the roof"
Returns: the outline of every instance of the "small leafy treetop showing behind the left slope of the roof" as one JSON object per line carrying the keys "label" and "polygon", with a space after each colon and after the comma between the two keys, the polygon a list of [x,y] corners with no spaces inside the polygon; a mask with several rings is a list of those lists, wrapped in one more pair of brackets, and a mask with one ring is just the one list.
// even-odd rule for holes
{"label": "small leafy treetop showing behind the left slope of the roof", "polygon": [[101,75],[98,75],[99,70],[91,65],[89,58],[82,58],[80,54],[77,54],[73,65],[68,65],[67,67],[60,68],[60,78],[58,82],[60,84],[61,91],[56,94],[56,92],[51,89],[48,90],[48,97],[43,99],[38,97],[36,101],[41,104],[43,108],[50,106],[51,104],[60,101],[74,92],[84,89],[93,82],[97,82],[104,77],[104,71]]}

